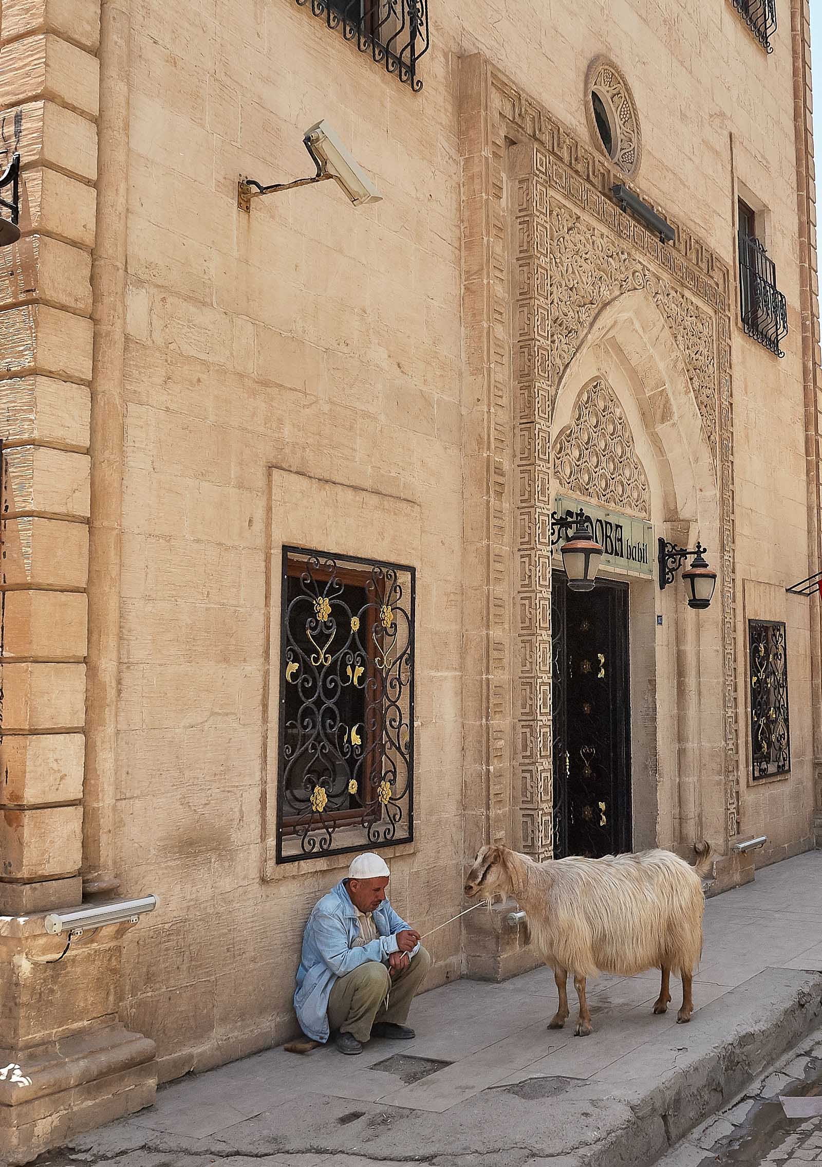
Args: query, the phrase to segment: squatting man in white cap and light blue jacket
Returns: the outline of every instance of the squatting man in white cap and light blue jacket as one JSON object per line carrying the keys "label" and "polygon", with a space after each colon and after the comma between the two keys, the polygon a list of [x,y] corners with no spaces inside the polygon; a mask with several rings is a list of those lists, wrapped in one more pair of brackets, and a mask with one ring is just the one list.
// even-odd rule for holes
{"label": "squatting man in white cap and light blue jacket", "polygon": [[388,875],[379,855],[357,855],[305,924],[294,1008],[308,1037],[333,1034],[340,1054],[415,1036],[405,1022],[431,958],[386,899]]}

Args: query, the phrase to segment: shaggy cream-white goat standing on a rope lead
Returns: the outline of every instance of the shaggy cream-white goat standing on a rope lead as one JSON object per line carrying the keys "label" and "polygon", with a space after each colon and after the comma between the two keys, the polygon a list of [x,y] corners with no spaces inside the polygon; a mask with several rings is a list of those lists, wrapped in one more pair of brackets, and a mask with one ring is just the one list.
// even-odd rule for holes
{"label": "shaggy cream-white goat standing on a rope lead", "polygon": [[528,917],[534,943],[554,970],[560,1008],[548,1025],[561,1029],[568,1016],[568,973],[579,998],[575,1033],[591,1032],[585,979],[597,972],[631,977],[661,969],[662,987],[654,1013],[665,1013],[670,973],[682,977],[682,1008],[690,1021],[691,979],[702,953],[702,876],[711,867],[711,848],[696,846],[690,867],[670,851],[557,859],[536,864],[508,847],[483,847],[465,881],[468,896],[514,895]]}

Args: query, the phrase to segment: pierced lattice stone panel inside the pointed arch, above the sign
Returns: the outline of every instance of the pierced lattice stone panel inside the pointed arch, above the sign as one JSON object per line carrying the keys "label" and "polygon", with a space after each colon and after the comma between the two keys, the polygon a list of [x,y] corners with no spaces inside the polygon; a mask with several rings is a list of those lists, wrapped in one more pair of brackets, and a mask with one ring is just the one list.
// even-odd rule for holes
{"label": "pierced lattice stone panel inside the pointed arch, above the sign", "polygon": [[560,490],[651,518],[648,476],[619,399],[604,378],[577,397],[571,424],[554,442],[553,459]]}

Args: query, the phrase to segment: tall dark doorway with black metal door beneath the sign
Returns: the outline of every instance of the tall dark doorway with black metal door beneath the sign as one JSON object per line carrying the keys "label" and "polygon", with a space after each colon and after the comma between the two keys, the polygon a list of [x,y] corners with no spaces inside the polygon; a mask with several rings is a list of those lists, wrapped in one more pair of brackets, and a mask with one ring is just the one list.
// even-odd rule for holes
{"label": "tall dark doorway with black metal door beneath the sign", "polygon": [[553,573],[554,858],[631,850],[628,587]]}

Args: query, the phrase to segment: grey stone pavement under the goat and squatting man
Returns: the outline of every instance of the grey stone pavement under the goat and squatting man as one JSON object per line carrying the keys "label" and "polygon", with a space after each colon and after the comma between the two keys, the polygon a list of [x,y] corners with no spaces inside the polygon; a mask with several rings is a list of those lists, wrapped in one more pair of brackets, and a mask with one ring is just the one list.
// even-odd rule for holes
{"label": "grey stone pavement under the goat and squatting man", "polygon": [[821,970],[822,852],[809,852],[708,901],[688,1026],[679,981],[668,1013],[652,1014],[655,972],[593,983],[589,1037],[546,1028],[546,969],[461,980],[415,1001],[414,1042],[373,1041],[356,1058],[267,1050],[171,1083],[152,1110],[51,1161],[642,1167],[817,1023]]}

